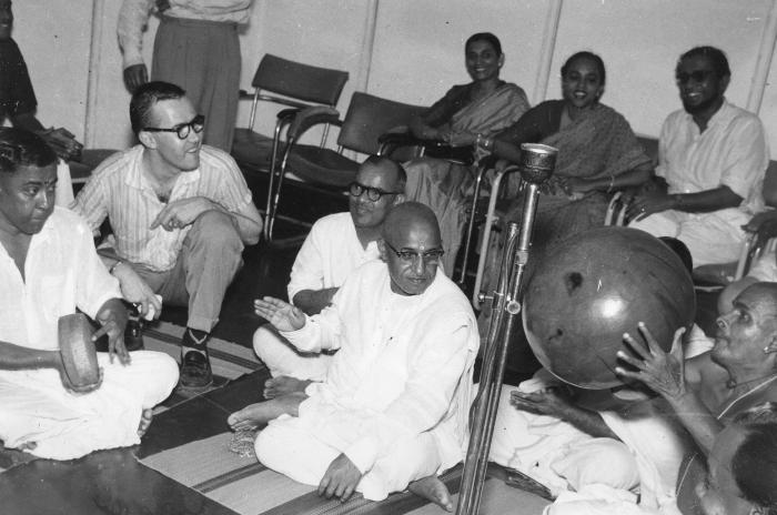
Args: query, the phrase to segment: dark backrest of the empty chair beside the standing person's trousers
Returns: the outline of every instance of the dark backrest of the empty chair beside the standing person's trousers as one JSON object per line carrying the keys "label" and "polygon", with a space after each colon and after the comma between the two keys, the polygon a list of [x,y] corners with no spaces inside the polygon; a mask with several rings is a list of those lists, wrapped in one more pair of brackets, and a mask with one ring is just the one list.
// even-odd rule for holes
{"label": "dark backrest of the empty chair beside the standing person's trousers", "polygon": [[259,63],[251,84],[284,97],[335,105],[347,80],[346,71],[312,67],[268,53]]}

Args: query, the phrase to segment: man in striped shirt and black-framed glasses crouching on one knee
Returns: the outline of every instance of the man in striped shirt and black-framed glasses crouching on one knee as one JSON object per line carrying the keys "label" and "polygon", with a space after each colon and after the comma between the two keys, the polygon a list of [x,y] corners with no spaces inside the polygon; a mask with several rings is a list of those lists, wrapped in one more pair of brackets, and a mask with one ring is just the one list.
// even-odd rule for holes
{"label": "man in striped shirt and black-framed glasses crouching on one knee", "polygon": [[206,341],[219,321],[243,244],[255,244],[262,219],[229,154],[202,145],[206,120],[184,91],[167,82],[135,90],[130,119],[140,144],[105,160],[75,199],[92,231],[105,218],[115,256],[103,262],[141,312],[186,305],[181,385],[212,382]]}

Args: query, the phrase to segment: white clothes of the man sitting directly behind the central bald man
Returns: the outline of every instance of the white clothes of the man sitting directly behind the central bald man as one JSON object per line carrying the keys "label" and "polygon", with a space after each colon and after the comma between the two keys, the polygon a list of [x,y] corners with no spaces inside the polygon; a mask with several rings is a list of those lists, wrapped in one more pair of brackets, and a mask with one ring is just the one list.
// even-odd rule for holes
{"label": "white clothes of the man sitting directly behind the central bald man", "polygon": [[[375,242],[370,242],[366,249],[362,246],[351,213],[335,213],[317,220],[292,266],[289,301],[303,290],[342,286],[351,272],[379,255]],[[253,347],[273,376],[323,381],[332,359],[317,352],[300,354],[269,325],[256,330]]]}

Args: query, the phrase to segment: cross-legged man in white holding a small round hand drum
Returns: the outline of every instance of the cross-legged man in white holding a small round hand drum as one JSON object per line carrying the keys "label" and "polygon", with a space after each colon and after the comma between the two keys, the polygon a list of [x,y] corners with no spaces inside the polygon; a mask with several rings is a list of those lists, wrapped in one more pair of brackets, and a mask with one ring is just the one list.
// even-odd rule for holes
{"label": "cross-legged man in white holding a small round hand drum", "polygon": [[[0,129],[0,440],[37,456],[71,460],[140,443],[151,408],[178,382],[175,361],[128,354],[121,291],[92,234],[54,208],[57,155],[38,135]],[[75,309],[102,325],[101,381],[77,387],[59,351],[58,321]]]}

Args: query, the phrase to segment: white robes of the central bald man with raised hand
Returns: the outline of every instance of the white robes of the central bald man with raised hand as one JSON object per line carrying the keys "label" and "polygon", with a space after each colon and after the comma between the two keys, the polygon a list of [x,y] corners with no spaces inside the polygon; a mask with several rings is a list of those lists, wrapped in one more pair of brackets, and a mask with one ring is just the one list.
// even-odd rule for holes
{"label": "white robes of the central bald man with raised hand", "polygon": [[462,461],[480,339],[466,297],[442,273],[423,294],[403,296],[391,291],[385,263],[367,263],[332,306],[283,334],[303,351],[339,352],[299,417],[260,434],[266,466],[317,484],[344,453],[365,473],[359,489],[380,499]]}

